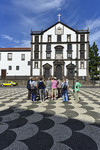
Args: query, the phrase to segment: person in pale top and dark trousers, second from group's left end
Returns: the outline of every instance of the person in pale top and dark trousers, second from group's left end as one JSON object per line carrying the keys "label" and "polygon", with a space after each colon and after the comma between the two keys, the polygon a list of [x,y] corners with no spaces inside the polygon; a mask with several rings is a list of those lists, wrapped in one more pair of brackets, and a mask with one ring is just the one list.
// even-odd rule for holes
{"label": "person in pale top and dark trousers, second from group's left end", "polygon": [[31,100],[33,102],[36,101],[36,91],[37,91],[37,83],[36,83],[36,79],[32,78],[32,80],[30,81],[30,86],[31,86]]}

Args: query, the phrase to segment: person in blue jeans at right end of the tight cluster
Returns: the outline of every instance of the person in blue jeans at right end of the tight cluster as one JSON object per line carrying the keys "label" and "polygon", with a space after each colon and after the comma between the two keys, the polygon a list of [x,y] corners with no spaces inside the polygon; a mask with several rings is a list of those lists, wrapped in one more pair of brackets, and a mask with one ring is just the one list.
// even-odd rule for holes
{"label": "person in blue jeans at right end of the tight cluster", "polygon": [[66,79],[63,79],[63,82],[61,84],[61,91],[62,91],[62,99],[63,102],[68,102],[68,82],[66,82]]}

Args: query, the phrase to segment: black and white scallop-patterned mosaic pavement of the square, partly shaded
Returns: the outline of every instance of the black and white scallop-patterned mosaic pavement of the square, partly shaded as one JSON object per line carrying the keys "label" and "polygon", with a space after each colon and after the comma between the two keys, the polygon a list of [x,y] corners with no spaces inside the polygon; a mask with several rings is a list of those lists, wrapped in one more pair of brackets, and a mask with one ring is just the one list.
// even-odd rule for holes
{"label": "black and white scallop-patterned mosaic pavement of the square, partly shaded", "polygon": [[0,88],[0,150],[100,150],[100,88],[76,103],[27,100],[25,88]]}

